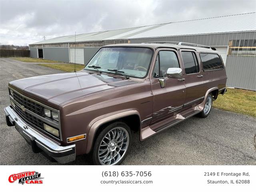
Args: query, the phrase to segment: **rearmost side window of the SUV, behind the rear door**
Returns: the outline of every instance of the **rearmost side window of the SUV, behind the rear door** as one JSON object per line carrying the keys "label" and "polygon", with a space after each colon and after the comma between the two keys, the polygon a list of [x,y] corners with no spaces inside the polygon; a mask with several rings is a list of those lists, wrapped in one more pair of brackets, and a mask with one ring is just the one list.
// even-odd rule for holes
{"label": "rearmost side window of the SUV, behind the rear door", "polygon": [[220,57],[212,53],[200,53],[204,71],[223,69]]}

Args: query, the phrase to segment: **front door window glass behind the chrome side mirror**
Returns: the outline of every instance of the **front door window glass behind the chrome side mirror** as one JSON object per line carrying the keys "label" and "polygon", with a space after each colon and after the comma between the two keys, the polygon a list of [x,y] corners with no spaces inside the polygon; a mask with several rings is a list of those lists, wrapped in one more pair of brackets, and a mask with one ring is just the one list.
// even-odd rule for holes
{"label": "front door window glass behind the chrome side mirror", "polygon": [[[163,77],[168,68],[179,68],[178,58],[173,51],[160,51],[157,56],[154,77]],[[156,74],[156,75],[155,75]]]}

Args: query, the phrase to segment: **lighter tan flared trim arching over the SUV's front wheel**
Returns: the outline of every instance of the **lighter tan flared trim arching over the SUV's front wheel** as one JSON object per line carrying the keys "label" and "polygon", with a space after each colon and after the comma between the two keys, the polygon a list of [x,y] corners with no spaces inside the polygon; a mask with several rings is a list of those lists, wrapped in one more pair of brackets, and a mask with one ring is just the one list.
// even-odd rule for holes
{"label": "lighter tan flared trim arching over the SUV's front wheel", "polygon": [[[138,115],[138,117],[140,118],[140,113],[137,110],[126,110],[126,111],[119,111],[119,112],[115,112],[115,113],[111,113],[111,114],[106,114],[104,116],[100,116],[94,120],[92,120],[89,124],[90,126],[90,130],[88,133],[88,141],[87,141],[87,146],[86,146],[86,154],[88,154],[92,148],[92,144],[94,141],[94,136],[96,131],[98,130],[98,128],[107,123],[107,122],[111,122],[113,120],[117,120],[120,118],[124,118],[130,115]],[[140,119],[141,122],[141,119]]]}

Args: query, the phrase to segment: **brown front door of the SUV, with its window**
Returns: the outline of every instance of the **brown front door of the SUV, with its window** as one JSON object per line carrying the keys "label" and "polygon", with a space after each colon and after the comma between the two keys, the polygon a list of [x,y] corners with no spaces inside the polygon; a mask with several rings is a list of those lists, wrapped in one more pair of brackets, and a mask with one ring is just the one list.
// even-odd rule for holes
{"label": "brown front door of the SUV, with its window", "polygon": [[180,56],[174,49],[162,48],[156,52],[155,65],[150,74],[150,82],[154,98],[151,124],[171,117],[182,109],[185,101],[186,88],[184,81],[165,78],[165,87],[160,86],[168,68],[182,68]]}

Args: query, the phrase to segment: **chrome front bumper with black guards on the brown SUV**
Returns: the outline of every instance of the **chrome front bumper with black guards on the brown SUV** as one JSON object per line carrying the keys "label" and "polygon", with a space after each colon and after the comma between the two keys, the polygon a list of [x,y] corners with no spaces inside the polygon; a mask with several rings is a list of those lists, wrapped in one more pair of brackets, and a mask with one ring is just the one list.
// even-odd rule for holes
{"label": "chrome front bumper with black guards on the brown SUV", "polygon": [[12,106],[4,108],[6,124],[15,126],[16,130],[31,145],[34,153],[44,151],[48,156],[54,158],[60,163],[67,163],[76,159],[76,145],[60,146],[54,140],[46,138],[43,134],[28,126],[18,114],[12,109]]}

